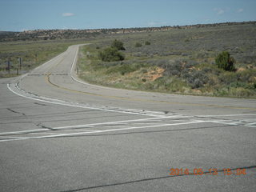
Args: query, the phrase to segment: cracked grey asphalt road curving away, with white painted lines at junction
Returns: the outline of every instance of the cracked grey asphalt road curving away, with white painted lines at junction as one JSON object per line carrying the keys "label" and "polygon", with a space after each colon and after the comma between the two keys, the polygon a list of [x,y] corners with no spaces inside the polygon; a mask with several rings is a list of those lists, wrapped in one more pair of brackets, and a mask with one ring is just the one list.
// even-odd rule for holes
{"label": "cracked grey asphalt road curving away, with white painted lines at junction", "polygon": [[77,52],[0,79],[0,191],[256,189],[256,100],[90,85]]}

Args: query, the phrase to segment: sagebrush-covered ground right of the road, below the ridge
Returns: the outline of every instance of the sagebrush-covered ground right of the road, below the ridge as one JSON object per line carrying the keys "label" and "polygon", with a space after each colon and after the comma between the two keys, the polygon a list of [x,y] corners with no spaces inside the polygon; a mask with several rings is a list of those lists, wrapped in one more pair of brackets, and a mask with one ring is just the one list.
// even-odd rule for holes
{"label": "sagebrush-covered ground right of the road, below the ridge", "polygon": [[[255,98],[255,32],[248,24],[102,37],[82,47],[80,77],[134,90]],[[125,59],[98,58],[115,39],[126,48],[119,50]]]}

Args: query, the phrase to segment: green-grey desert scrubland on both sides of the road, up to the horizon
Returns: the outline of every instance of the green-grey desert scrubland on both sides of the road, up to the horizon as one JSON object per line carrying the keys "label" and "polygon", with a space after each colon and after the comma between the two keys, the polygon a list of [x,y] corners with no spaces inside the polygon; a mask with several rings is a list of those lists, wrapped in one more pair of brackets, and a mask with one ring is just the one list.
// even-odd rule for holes
{"label": "green-grey desert scrubland on both sides of the road, up to the horizon", "polygon": [[[33,69],[72,44],[87,82],[134,90],[256,98],[256,22],[0,32],[0,77]],[[6,67],[10,61],[10,74]]]}

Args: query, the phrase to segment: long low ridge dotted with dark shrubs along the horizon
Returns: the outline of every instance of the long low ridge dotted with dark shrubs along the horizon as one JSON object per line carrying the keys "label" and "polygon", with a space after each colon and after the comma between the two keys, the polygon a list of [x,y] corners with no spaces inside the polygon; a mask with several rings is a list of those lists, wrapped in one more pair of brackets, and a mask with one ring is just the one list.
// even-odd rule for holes
{"label": "long low ridge dotted with dark shrubs along the horizon", "polygon": [[136,27],[136,28],[116,28],[116,29],[95,29],[95,30],[26,30],[23,32],[0,31],[0,42],[26,41],[26,40],[53,40],[71,38],[90,38],[99,34],[129,34],[139,32],[165,31],[174,29],[193,29],[214,26],[233,26],[254,24],[256,22],[224,22],[214,24],[198,24],[191,26],[160,26],[160,27]]}

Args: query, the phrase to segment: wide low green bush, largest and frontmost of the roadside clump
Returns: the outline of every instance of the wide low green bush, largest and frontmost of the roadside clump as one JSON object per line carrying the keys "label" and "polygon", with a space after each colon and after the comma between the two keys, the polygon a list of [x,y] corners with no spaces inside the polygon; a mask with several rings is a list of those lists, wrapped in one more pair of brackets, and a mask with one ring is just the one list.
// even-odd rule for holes
{"label": "wide low green bush, largest and frontmost of the roadside clump", "polygon": [[103,62],[118,62],[125,59],[124,55],[113,47],[108,47],[99,52],[98,57],[102,59]]}

